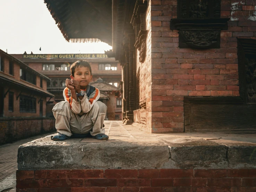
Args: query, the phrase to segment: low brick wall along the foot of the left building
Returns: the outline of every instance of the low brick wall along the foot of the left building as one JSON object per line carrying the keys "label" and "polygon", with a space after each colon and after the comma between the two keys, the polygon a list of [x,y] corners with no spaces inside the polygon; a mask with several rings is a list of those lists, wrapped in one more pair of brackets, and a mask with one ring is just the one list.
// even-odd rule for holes
{"label": "low brick wall along the foot of the left building", "polygon": [[55,119],[44,118],[12,118],[0,120],[0,145],[40,134],[55,129]]}

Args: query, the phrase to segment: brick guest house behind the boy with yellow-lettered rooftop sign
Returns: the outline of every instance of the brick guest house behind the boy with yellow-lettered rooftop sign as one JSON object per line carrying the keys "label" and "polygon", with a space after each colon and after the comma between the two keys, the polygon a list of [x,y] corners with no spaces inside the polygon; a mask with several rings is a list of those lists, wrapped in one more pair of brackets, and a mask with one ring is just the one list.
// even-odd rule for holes
{"label": "brick guest house behind the boy with yellow-lettered rooftop sign", "polygon": [[[70,79],[70,65],[77,60],[90,62],[93,75],[92,81],[101,78],[104,82],[116,87],[113,87],[111,91],[116,90],[121,81],[122,67],[120,63],[114,58],[108,58],[105,54],[12,54],[12,56],[15,56],[29,67],[51,79],[47,84],[47,90],[54,94],[55,97],[49,101],[49,108],[47,109],[48,116],[52,116],[51,108],[53,105],[64,100],[63,89],[65,88],[66,79]],[[116,101],[118,98],[111,96],[107,98],[108,100],[115,100],[109,101],[109,103],[118,103],[118,101]],[[104,99],[104,97],[100,99]],[[120,111],[117,109],[120,106],[110,106],[107,111],[109,120],[121,119]],[[116,110],[115,116],[112,113]]]}

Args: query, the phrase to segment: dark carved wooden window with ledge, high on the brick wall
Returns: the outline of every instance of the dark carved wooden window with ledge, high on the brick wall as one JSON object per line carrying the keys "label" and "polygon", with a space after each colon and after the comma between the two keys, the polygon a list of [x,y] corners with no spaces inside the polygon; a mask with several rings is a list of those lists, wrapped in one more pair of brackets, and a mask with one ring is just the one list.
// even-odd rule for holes
{"label": "dark carved wooden window with ledge, high on the brick wall", "polygon": [[220,48],[220,31],[228,29],[229,18],[220,18],[221,0],[180,0],[177,19],[170,28],[179,30],[179,47]]}

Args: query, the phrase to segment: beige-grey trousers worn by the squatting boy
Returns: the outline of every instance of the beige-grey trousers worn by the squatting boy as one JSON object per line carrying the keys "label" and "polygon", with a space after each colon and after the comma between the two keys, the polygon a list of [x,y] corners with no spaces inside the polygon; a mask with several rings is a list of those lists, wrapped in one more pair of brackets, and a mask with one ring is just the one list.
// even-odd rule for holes
{"label": "beige-grey trousers worn by the squatting boy", "polygon": [[61,101],[53,107],[52,112],[56,119],[57,132],[70,137],[72,133],[86,134],[90,132],[92,136],[105,133],[103,122],[106,110],[106,105],[97,101],[91,111],[79,116],[71,111],[70,104],[67,101]]}

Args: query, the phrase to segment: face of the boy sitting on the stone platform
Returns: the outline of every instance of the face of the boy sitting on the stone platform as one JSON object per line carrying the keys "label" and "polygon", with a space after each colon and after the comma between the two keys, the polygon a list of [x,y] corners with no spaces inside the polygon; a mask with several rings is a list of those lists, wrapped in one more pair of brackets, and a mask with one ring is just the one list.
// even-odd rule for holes
{"label": "face of the boy sitting on the stone platform", "polygon": [[70,78],[79,82],[80,89],[85,89],[92,80],[92,75],[88,67],[79,66],[75,68],[74,77],[70,75]]}

